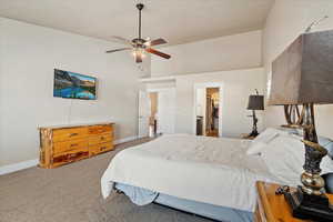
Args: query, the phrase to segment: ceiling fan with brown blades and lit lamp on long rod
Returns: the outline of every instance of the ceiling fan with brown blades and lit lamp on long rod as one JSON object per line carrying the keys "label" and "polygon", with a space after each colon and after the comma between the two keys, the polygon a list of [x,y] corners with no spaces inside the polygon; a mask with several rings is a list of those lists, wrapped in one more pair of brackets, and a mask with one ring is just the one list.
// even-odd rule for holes
{"label": "ceiling fan with brown blades and lit lamp on long rod", "polygon": [[140,63],[142,62],[142,59],[144,58],[144,52],[149,52],[159,57],[162,57],[164,59],[170,59],[170,54],[165,54],[163,52],[160,52],[158,50],[152,49],[153,46],[164,44],[167,41],[162,38],[155,39],[155,40],[145,40],[141,38],[141,11],[144,8],[143,3],[138,3],[137,8],[139,10],[139,37],[133,39],[132,41],[127,40],[122,37],[113,37],[114,39],[119,40],[120,42],[129,46],[127,48],[120,48],[114,50],[109,50],[107,53],[113,53],[118,51],[124,51],[124,50],[133,50],[133,56],[135,58],[135,62]]}

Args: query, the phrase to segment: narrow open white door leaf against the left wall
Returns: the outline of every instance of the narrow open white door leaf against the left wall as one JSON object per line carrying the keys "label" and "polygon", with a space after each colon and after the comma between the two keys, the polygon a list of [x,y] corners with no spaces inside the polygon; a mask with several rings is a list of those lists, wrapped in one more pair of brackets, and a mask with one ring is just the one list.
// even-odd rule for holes
{"label": "narrow open white door leaf against the left wall", "polygon": [[149,93],[139,91],[139,138],[149,135],[150,99]]}

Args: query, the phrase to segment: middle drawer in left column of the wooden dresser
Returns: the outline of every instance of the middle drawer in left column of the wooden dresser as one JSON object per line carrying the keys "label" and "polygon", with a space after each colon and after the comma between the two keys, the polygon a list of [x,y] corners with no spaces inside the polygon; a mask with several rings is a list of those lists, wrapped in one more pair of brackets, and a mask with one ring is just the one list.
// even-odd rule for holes
{"label": "middle drawer in left column of the wooden dresser", "polygon": [[77,139],[71,141],[56,142],[53,143],[53,154],[64,153],[69,151],[88,149],[87,139]]}

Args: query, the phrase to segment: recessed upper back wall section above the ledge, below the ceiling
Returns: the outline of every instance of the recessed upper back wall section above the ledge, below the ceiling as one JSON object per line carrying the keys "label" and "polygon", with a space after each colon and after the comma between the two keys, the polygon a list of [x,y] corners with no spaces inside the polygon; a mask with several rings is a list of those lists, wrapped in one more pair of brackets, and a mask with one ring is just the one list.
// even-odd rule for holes
{"label": "recessed upper back wall section above the ledge, below the ceiling", "polygon": [[152,77],[261,67],[261,31],[161,48],[170,60],[152,56]]}

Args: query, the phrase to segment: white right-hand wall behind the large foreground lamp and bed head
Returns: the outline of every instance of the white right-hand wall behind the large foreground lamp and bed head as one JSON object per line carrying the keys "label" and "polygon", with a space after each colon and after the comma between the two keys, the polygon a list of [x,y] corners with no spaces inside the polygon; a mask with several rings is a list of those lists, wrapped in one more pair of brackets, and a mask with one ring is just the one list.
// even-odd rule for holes
{"label": "white right-hand wall behind the large foreground lamp and bed head", "polygon": [[[270,80],[272,61],[291,43],[306,27],[322,18],[330,18],[315,27],[313,31],[333,29],[332,0],[279,0],[269,13],[263,30],[263,63]],[[333,105],[319,105],[316,111],[317,132],[333,138]],[[265,111],[265,124],[274,127],[285,123],[281,107],[269,107]]]}

